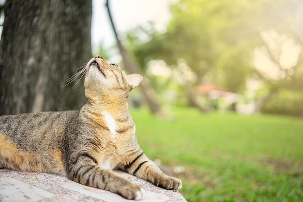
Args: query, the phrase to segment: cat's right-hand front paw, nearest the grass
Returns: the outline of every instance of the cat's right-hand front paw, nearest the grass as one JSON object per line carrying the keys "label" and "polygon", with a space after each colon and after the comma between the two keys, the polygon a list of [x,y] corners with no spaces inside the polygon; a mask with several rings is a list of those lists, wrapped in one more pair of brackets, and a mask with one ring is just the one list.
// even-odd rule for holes
{"label": "cat's right-hand front paw, nearest the grass", "polygon": [[159,186],[161,188],[170,189],[170,190],[178,190],[182,188],[181,180],[167,175],[154,178],[154,181],[152,183],[155,186]]}

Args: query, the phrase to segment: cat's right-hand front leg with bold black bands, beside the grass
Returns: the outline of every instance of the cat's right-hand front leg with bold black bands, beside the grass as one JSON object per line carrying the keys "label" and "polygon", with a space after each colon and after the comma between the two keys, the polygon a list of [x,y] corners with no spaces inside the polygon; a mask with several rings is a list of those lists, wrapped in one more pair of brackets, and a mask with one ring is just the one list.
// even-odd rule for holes
{"label": "cat's right-hand front leg with bold black bands, beside the grass", "polygon": [[132,161],[125,165],[124,171],[165,189],[178,190],[182,188],[181,180],[163,173],[158,166],[143,153],[137,155]]}

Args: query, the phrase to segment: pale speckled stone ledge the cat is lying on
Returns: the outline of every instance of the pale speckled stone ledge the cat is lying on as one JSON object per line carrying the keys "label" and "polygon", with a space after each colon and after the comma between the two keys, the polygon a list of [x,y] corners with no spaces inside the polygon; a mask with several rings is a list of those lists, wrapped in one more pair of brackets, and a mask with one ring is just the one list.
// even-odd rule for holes
{"label": "pale speckled stone ledge the cat is lying on", "polygon": [[[137,185],[147,197],[140,202],[186,202],[178,191],[153,186],[145,180],[115,171]],[[48,173],[18,173],[0,170],[0,202],[130,202],[117,194],[83,186],[66,177]]]}

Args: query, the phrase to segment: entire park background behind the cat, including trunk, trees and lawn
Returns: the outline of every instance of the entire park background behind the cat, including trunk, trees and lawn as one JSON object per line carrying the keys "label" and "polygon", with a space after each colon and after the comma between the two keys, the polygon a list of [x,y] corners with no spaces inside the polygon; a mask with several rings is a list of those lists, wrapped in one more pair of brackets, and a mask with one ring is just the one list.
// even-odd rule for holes
{"label": "entire park background behind the cat, including trunk, trees and lawn", "polygon": [[302,0],[107,3],[0,0],[0,114],[79,109],[101,55],[144,76],[139,143],[188,202],[301,202]]}

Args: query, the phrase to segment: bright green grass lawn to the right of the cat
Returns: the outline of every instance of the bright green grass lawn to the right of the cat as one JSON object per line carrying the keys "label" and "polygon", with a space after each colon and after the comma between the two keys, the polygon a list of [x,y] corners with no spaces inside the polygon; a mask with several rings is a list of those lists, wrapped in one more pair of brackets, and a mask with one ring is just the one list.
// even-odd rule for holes
{"label": "bright green grass lawn to the right of the cat", "polygon": [[177,177],[188,202],[302,202],[303,119],[188,108],[174,110],[173,120],[131,113],[146,155],[185,167]]}

